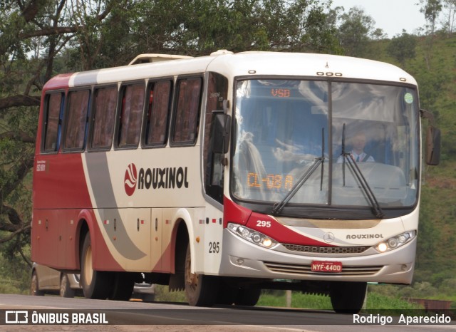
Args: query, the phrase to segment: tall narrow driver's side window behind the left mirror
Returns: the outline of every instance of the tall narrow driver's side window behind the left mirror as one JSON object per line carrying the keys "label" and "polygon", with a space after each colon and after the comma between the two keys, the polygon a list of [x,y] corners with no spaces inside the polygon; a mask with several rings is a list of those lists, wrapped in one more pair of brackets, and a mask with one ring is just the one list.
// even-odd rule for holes
{"label": "tall narrow driver's side window behind the left mirror", "polygon": [[223,100],[228,98],[228,80],[218,73],[209,73],[207,83],[207,102],[204,116],[204,190],[223,204],[224,155],[211,150],[213,135],[222,135],[212,128],[214,110],[223,110]]}

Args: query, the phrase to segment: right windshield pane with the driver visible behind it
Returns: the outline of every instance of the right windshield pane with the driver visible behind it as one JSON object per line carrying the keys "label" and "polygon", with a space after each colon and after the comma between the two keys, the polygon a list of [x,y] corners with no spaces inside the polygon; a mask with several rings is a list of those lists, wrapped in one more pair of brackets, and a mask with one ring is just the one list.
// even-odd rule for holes
{"label": "right windshield pane with the driver visible behind it", "polygon": [[[410,88],[332,83],[332,204],[369,205],[342,157],[359,167],[380,206],[415,203],[418,187],[418,98]],[[345,128],[345,129],[344,129]]]}

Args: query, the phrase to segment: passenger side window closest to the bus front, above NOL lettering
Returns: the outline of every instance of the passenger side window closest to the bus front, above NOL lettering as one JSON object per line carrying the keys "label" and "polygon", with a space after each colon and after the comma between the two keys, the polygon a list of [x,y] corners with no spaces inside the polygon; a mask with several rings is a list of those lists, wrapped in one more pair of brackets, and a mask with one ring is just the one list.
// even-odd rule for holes
{"label": "passenger side window closest to the bus front, above NOL lettering", "polygon": [[202,78],[177,81],[177,105],[172,128],[172,145],[195,145],[198,136]]}

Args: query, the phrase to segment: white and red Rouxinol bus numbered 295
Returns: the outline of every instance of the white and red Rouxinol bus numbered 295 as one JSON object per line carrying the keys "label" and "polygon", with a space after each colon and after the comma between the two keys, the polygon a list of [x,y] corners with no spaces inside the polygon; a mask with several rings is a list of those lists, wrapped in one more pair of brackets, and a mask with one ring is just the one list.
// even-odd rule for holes
{"label": "white and red Rouxinol bus numbered 295", "polygon": [[32,259],[81,273],[88,298],[128,299],[145,274],[192,306],[294,289],[358,312],[368,281],[412,281],[429,113],[400,68],[150,55],[58,75],[42,100]]}

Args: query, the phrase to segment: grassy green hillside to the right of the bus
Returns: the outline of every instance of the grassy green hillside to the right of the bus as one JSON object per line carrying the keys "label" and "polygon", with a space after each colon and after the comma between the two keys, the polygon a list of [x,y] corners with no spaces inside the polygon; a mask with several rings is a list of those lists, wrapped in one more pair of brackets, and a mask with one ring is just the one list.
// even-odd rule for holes
{"label": "grassy green hillside to the right of the bus", "polygon": [[[415,270],[416,283],[437,287],[456,284],[456,34],[414,38],[415,57],[405,63],[388,55],[388,41],[373,42],[372,48],[380,52],[371,58],[403,67],[416,78],[420,106],[434,113],[442,130],[440,165],[423,169]],[[456,288],[448,290],[456,299]],[[435,297],[438,291],[431,294]]]}

